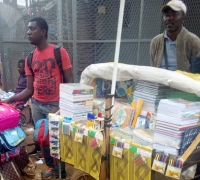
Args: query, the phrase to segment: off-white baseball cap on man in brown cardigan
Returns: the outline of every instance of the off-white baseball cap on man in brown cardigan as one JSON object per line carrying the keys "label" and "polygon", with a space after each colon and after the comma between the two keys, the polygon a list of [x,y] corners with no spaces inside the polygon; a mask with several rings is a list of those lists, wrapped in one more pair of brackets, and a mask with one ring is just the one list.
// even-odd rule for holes
{"label": "off-white baseball cap on man in brown cardigan", "polygon": [[171,0],[166,5],[164,5],[161,9],[162,12],[165,11],[167,8],[171,8],[174,11],[183,11],[185,14],[187,12],[186,5],[181,0]]}

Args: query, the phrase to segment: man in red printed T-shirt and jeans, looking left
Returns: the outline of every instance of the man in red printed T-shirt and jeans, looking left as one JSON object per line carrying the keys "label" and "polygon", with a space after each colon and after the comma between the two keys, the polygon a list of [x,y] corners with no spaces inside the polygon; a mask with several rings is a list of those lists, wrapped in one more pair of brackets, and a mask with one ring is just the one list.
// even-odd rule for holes
{"label": "man in red printed T-shirt and jeans, looking left", "polygon": [[[27,34],[30,43],[36,47],[33,52],[32,69],[29,68],[27,59],[25,62],[27,87],[4,102],[24,100],[33,96],[31,112],[33,121],[36,123],[39,119],[47,118],[49,113],[59,110],[59,84],[73,83],[74,80],[70,58],[63,47],[60,48],[62,76],[60,74],[59,65],[54,56],[55,45],[47,42],[48,24],[45,19],[33,18],[28,24]],[[39,146],[36,145],[33,153],[39,150]],[[56,172],[56,178],[59,178],[58,167],[54,165],[50,148],[43,147],[42,150],[48,166],[47,171],[42,173],[42,179],[51,179],[54,172]],[[61,162],[61,178],[66,178],[64,162]]]}

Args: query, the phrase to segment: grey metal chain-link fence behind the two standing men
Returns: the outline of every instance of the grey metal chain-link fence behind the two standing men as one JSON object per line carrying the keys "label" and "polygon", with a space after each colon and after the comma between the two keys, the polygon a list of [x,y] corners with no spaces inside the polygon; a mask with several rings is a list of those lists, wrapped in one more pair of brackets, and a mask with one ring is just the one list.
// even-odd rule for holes
{"label": "grey metal chain-link fence behind the two standing men", "polygon": [[[76,82],[88,65],[113,61],[120,0],[2,2],[0,48],[6,89],[16,86],[17,61],[33,49],[27,40],[26,27],[36,16],[47,20],[49,41],[63,45],[69,52]],[[126,0],[119,62],[150,65],[149,44],[163,31],[160,9],[166,2],[168,0]],[[200,36],[200,0],[184,2],[188,6],[185,26]]]}

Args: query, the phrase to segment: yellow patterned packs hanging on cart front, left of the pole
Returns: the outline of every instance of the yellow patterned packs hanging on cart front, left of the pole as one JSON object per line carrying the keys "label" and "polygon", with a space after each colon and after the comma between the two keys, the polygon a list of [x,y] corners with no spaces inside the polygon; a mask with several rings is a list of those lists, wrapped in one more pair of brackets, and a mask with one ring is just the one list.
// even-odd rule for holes
{"label": "yellow patterned packs hanging on cart front, left of the pole", "polygon": [[[64,159],[66,162],[71,162],[75,168],[89,173],[98,180],[101,157],[105,148],[103,134],[98,130],[87,128],[81,121],[73,122],[72,126],[71,135],[68,136],[68,140],[64,141],[64,147],[67,147]],[[71,147],[66,144],[70,144]]]}

